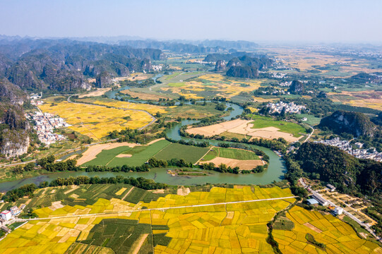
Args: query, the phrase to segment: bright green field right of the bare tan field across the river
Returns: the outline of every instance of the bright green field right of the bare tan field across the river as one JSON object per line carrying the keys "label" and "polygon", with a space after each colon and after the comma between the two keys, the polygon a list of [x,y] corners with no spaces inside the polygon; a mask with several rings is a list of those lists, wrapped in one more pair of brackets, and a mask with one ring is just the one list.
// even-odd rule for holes
{"label": "bright green field right of the bare tan field across the river", "polygon": [[294,137],[298,138],[302,134],[307,134],[306,129],[297,123],[291,123],[287,121],[277,121],[271,117],[251,115],[251,118],[255,120],[252,128],[266,128],[275,127],[285,133],[291,133]]}

